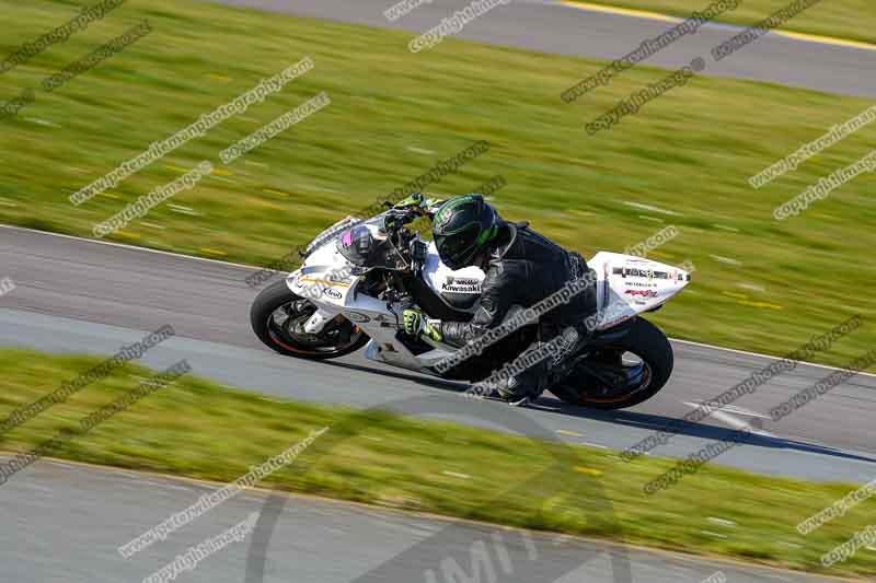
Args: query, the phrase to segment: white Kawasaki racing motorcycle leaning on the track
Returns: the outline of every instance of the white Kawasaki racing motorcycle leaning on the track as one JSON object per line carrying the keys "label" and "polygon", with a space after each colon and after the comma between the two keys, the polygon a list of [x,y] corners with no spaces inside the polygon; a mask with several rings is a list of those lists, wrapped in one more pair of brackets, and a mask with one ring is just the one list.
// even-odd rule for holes
{"label": "white Kawasaki racing motorcycle leaning on the track", "polygon": [[[430,221],[440,201],[420,195],[376,217],[348,217],[323,231],[302,253],[301,267],[265,288],[252,304],[255,335],[280,354],[335,359],[365,347],[365,358],[440,378],[477,383],[511,362],[535,338],[529,324],[463,362],[447,368],[454,347],[404,334],[401,314],[470,320],[484,272],[452,270],[433,242],[408,228]],[[673,365],[666,335],[642,314],[660,310],[691,280],[682,269],[642,257],[599,252],[587,261],[597,313],[589,338],[566,355],[549,390],[597,409],[643,403],[667,383]],[[445,365],[442,365],[445,364]]]}

